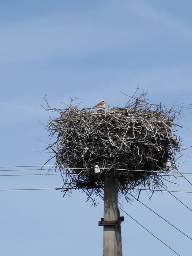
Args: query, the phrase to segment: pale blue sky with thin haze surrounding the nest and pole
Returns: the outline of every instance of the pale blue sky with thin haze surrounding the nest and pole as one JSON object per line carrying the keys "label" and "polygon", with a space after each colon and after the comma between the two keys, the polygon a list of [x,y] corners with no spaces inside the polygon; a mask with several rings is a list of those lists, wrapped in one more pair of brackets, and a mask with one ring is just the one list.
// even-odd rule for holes
{"label": "pale blue sky with thin haze surrounding the nest and pole", "polygon": [[[69,104],[70,97],[78,97],[86,107],[103,98],[110,106],[121,107],[128,100],[121,91],[132,95],[139,84],[153,103],[191,104],[191,13],[189,0],[1,1],[0,165],[42,165],[48,160],[49,153],[38,153],[45,150],[42,141],[50,142],[38,122],[49,120],[50,113],[41,107],[45,95],[51,106],[59,108],[60,102]],[[189,147],[191,114],[185,112],[178,122],[184,129],[177,134]],[[185,153],[191,155],[192,149]],[[179,170],[191,172],[191,160]],[[192,191],[184,178],[173,181],[179,185],[167,182],[170,190]],[[57,188],[62,178],[2,176],[0,185],[1,189]],[[192,208],[191,194],[174,195]],[[148,200],[142,193],[140,200],[192,236],[191,211],[170,194],[158,192]],[[91,207],[78,191],[64,198],[55,190],[0,191],[1,255],[102,255],[103,229],[97,224],[103,217],[103,202],[98,203]],[[139,202],[123,201],[123,207],[181,256],[191,255],[191,240]],[[176,255],[121,215],[124,255]]]}

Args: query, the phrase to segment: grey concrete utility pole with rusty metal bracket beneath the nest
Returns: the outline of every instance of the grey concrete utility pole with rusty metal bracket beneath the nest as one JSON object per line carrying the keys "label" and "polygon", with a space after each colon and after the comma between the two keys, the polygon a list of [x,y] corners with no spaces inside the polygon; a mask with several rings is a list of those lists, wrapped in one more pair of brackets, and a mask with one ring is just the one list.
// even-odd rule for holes
{"label": "grey concrete utility pole with rusty metal bracket beneath the nest", "polygon": [[117,203],[117,181],[106,180],[104,184],[104,218],[99,221],[103,225],[103,256],[122,256],[121,221]]}

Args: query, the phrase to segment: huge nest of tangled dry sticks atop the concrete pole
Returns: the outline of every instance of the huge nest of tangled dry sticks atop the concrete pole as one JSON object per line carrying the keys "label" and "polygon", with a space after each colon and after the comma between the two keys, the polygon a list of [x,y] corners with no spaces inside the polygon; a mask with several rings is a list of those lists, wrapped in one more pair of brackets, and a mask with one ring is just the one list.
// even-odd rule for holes
{"label": "huge nest of tangled dry sticks atop the concrete pole", "polygon": [[124,108],[102,111],[79,109],[73,101],[65,109],[46,103],[46,110],[60,114],[48,122],[54,138],[48,148],[54,152],[65,193],[82,189],[95,202],[94,196],[103,198],[104,181],[111,178],[116,178],[124,195],[139,185],[153,191],[163,184],[158,171],[168,171],[167,161],[176,169],[175,155],[181,148],[174,134],[179,114],[174,107],[150,104],[146,93],[131,97]]}

